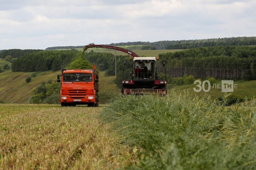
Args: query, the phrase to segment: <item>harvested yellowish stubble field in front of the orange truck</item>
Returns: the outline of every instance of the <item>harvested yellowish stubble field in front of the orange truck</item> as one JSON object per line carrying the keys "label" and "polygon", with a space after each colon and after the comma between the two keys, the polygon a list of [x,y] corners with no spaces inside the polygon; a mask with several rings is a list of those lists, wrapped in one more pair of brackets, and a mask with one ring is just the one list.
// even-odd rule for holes
{"label": "harvested yellowish stubble field in front of the orange truck", "polygon": [[102,124],[102,107],[0,105],[0,169],[114,169],[132,155]]}

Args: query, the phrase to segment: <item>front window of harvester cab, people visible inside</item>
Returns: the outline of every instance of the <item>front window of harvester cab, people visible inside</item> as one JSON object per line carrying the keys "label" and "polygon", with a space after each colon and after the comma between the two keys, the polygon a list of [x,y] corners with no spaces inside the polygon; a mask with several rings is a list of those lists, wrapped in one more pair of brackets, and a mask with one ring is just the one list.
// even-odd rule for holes
{"label": "front window of harvester cab, people visible inside", "polygon": [[155,61],[136,61],[134,77],[135,79],[155,79],[154,76],[154,64]]}

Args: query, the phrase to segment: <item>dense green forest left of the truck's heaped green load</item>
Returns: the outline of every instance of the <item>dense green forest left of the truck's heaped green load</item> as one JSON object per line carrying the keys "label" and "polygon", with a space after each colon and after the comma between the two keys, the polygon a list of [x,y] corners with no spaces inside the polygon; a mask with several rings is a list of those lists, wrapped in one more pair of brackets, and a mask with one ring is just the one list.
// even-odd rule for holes
{"label": "dense green forest left of the truck's heaped green load", "polygon": [[65,68],[73,58],[81,55],[76,50],[53,50],[27,53],[12,63],[14,72],[38,72]]}

